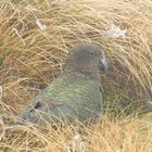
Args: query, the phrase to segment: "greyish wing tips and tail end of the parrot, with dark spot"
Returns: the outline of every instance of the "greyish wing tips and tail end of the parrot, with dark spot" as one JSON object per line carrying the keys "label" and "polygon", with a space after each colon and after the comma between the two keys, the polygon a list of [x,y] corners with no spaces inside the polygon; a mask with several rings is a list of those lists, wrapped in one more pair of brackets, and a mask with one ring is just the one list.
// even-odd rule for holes
{"label": "greyish wing tips and tail end of the parrot, with dark spot", "polygon": [[[39,97],[39,96],[38,96]],[[18,117],[16,124],[26,124],[26,123],[34,123],[34,124],[43,124],[49,121],[49,113],[59,109],[63,103],[54,101],[52,99],[43,99],[36,97],[35,101],[29,104],[24,112]],[[38,100],[39,99],[39,100]],[[45,118],[45,119],[43,119]],[[41,122],[41,123],[38,123]]]}

